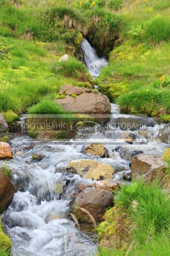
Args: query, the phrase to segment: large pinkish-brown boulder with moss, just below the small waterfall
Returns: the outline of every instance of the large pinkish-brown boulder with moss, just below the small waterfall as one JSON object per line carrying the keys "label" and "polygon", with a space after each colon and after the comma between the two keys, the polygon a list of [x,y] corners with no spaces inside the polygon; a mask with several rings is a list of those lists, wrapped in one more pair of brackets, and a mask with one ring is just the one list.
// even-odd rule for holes
{"label": "large pinkish-brown boulder with moss, just below the small waterfall", "polygon": [[[107,96],[102,93],[93,93],[93,90],[72,85],[62,85],[59,93],[67,95],[64,99],[55,99],[55,102],[62,104],[66,111],[82,114],[109,114],[111,103]],[[72,97],[71,94],[77,95]]]}

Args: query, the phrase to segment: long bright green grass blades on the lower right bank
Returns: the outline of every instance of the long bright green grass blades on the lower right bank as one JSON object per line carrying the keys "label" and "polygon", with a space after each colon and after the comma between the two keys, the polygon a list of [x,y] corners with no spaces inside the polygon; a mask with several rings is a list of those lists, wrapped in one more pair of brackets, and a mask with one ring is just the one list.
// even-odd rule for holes
{"label": "long bright green grass blades on the lower right bank", "polygon": [[[141,256],[168,255],[170,252],[170,198],[167,192],[162,192],[157,181],[147,184],[140,180],[128,187],[122,185],[121,190],[116,192],[115,198],[115,206],[122,209],[120,215],[126,212],[126,218],[130,220],[129,245],[115,248],[116,244],[111,244],[114,248],[101,248],[101,255],[124,256],[127,252],[131,253],[130,255],[136,253]],[[114,222],[108,222],[108,225],[112,227]],[[99,224],[98,230],[100,232],[103,230],[102,223]],[[105,232],[105,228],[102,232]]]}

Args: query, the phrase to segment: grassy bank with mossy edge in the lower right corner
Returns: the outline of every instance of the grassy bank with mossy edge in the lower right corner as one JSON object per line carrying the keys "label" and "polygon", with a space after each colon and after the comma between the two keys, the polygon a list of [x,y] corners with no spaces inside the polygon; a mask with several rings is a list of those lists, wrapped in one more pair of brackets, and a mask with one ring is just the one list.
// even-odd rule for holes
{"label": "grassy bank with mossy edge in the lower right corner", "polygon": [[122,186],[116,194],[115,207],[106,212],[97,229],[105,245],[101,256],[169,255],[169,193],[162,192],[156,182],[140,181]]}

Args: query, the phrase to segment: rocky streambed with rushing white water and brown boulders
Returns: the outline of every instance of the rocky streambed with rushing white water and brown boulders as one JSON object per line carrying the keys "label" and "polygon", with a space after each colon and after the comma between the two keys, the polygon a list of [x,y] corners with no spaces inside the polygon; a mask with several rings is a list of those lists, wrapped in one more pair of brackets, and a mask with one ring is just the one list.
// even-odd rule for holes
{"label": "rocky streambed with rushing white water and brown boulders", "polygon": [[[115,109],[118,106],[112,105]],[[138,122],[141,117],[132,119],[114,112],[107,124],[117,118]],[[12,255],[95,253],[97,240],[94,242],[95,235],[87,228],[94,223],[85,224],[91,223],[91,218],[81,208],[91,212],[96,222],[101,221],[105,208],[113,205],[110,189],[130,182],[132,174],[147,179],[149,174],[154,177],[160,168],[166,168],[161,156],[169,147],[170,126],[159,125],[153,119],[147,125],[140,128],[147,129],[147,135],[138,133],[136,137],[106,133],[103,126],[97,135],[82,137],[88,145],[74,145],[79,134],[72,139],[72,145],[37,144],[32,140],[28,143],[28,136],[16,137],[11,140],[11,160],[2,159],[4,154],[11,158],[11,150],[5,150],[8,144],[1,143],[4,150],[0,166],[8,165],[15,187],[14,199],[2,214],[13,244]],[[120,127],[114,129],[119,130]],[[96,145],[96,138],[105,144]],[[143,144],[146,140],[147,144]],[[41,157],[32,157],[35,155]],[[70,212],[79,218],[80,229]]]}

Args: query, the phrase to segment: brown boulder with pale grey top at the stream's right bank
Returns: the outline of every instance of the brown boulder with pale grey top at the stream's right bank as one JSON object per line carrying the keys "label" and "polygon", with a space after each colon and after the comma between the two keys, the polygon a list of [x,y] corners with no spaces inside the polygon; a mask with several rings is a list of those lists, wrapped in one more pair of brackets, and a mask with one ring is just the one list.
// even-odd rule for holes
{"label": "brown boulder with pale grey top at the stream's right bank", "polygon": [[156,177],[163,178],[164,169],[167,168],[167,163],[162,157],[149,154],[139,154],[132,157],[131,170],[136,180],[143,176],[144,181],[153,181]]}

